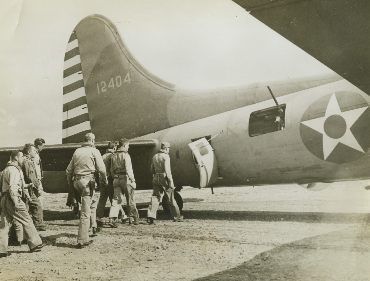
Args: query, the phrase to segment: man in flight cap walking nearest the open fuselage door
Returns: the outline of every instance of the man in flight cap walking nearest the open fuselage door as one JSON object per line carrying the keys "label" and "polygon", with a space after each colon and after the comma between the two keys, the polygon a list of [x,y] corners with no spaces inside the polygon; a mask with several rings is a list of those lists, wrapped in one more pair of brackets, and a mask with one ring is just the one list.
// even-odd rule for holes
{"label": "man in flight cap walking nearest the open fuselage door", "polygon": [[147,213],[147,222],[154,224],[157,219],[157,209],[161,201],[161,194],[164,192],[171,216],[174,221],[182,221],[183,216],[180,215],[179,207],[174,197],[174,182],[172,180],[171,165],[169,162],[169,143],[162,142],[161,149],[153,156],[150,170],[154,174],[153,177],[153,195],[150,200]]}

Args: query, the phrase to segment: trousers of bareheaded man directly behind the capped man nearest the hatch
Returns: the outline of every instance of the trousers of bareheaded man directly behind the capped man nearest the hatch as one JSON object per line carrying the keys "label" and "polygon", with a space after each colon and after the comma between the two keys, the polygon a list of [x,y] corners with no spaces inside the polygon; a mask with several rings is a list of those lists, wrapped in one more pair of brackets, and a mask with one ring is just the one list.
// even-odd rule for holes
{"label": "trousers of bareheaded man directly behind the capped man nearest the hatch", "polygon": [[122,193],[126,196],[127,202],[127,215],[130,221],[135,221],[139,219],[139,212],[136,209],[135,204],[135,193],[132,188],[132,183],[126,175],[119,175],[114,178],[113,181],[113,201],[111,209],[109,210],[109,217],[114,218],[118,217],[120,211],[120,205],[122,204]]}

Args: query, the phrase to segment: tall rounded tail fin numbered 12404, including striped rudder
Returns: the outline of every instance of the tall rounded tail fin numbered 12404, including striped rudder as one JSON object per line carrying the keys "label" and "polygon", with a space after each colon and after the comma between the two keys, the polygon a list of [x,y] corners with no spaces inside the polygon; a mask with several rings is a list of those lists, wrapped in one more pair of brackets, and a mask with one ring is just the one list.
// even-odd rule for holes
{"label": "tall rounded tail fin numbered 12404, including striped rudder", "polygon": [[133,138],[167,128],[175,85],[153,75],[101,15],[75,27],[64,59],[63,143]]}

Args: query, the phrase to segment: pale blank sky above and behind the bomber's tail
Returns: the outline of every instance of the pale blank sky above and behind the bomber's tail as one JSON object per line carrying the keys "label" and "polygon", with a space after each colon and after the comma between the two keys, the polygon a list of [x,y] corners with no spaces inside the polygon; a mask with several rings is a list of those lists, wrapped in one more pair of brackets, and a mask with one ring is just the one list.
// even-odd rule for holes
{"label": "pale blank sky above and behind the bomber's tail", "polygon": [[113,21],[153,74],[190,88],[328,73],[229,0],[0,0],[0,147],[62,140],[63,61],[90,14]]}

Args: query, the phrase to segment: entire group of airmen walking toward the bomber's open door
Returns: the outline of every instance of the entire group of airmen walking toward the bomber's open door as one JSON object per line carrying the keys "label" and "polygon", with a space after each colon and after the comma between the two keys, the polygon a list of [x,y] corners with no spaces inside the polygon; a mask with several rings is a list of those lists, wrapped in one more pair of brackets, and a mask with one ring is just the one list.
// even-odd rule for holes
{"label": "entire group of airmen walking toward the bomber's open door", "polygon": [[[78,248],[90,245],[89,229],[92,233],[99,233],[105,223],[105,204],[109,197],[111,207],[108,225],[117,228],[119,212],[122,213],[122,222],[129,221],[129,225],[137,225],[139,213],[135,204],[136,181],[132,171],[131,157],[128,154],[129,141],[120,139],[118,146],[115,141],[108,143],[104,155],[95,148],[95,135],[87,133],[84,143],[76,149],[67,167],[66,175],[70,186],[68,192],[68,206],[77,210],[79,203],[80,221],[78,226]],[[0,258],[7,257],[9,229],[14,224],[18,244],[28,244],[30,252],[40,251],[44,243],[38,231],[47,229],[43,220],[43,208],[40,196],[42,187],[42,164],[39,153],[43,150],[45,141],[36,139],[34,144],[26,144],[23,150],[13,150],[10,161],[0,177],[1,191],[1,222],[0,222]],[[173,221],[184,219],[174,198],[174,182],[172,180],[169,159],[168,142],[161,143],[161,149],[154,155],[151,164],[153,173],[153,194],[147,212],[147,223],[155,224],[157,209],[164,193]],[[94,200],[95,172],[99,174],[100,198]],[[127,201],[127,215],[122,209],[123,194]]]}

